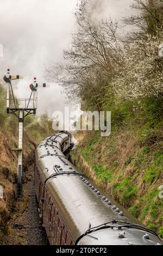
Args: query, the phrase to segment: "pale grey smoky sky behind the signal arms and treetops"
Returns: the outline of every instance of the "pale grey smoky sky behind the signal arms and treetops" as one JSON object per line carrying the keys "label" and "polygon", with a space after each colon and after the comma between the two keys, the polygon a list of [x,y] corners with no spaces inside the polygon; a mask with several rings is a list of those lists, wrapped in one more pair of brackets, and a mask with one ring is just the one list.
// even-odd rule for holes
{"label": "pale grey smoky sky behind the signal arms and treetops", "polygon": [[[132,0],[91,0],[92,14],[97,19],[116,17],[120,20],[130,11]],[[0,57],[1,78],[9,66],[11,73],[23,75],[24,80],[14,84],[17,97],[29,97],[33,77],[43,83],[44,65],[48,60],[59,62],[62,50],[70,45],[74,31],[73,10],[77,0],[1,0],[0,2]],[[1,80],[2,82],[2,80]],[[52,114],[64,106],[75,106],[61,95],[60,87],[39,88],[37,113]]]}

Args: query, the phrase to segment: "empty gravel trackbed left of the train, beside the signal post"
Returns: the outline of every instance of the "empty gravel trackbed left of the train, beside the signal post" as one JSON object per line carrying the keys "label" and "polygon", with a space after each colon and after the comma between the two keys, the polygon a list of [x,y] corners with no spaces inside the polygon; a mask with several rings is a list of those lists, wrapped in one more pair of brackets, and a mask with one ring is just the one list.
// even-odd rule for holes
{"label": "empty gravel trackbed left of the train, beside the signal post", "polygon": [[42,227],[36,202],[34,190],[34,164],[28,168],[23,180],[24,200],[21,203],[17,203],[17,211],[10,223],[12,229],[10,244],[48,245],[47,235],[45,229]]}

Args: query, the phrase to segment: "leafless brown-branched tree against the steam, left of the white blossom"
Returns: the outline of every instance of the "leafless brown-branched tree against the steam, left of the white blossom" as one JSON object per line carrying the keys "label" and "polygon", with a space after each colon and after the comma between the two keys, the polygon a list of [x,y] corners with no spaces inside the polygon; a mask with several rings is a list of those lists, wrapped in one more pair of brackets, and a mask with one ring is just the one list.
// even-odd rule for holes
{"label": "leafless brown-branched tree against the steam, left of the white blossom", "polygon": [[105,86],[114,75],[115,66],[122,65],[122,51],[117,35],[117,22],[92,21],[87,10],[89,1],[81,1],[74,14],[76,32],[71,47],[64,50],[64,65],[51,65],[46,77],[55,77],[64,92],[101,110]]}

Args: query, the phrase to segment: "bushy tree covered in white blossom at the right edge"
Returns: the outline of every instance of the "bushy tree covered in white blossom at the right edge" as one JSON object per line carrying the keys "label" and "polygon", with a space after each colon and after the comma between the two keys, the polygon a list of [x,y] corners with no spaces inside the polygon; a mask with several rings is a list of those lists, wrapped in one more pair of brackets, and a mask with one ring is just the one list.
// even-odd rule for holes
{"label": "bushy tree covered in white blossom at the right edge", "polygon": [[143,97],[162,97],[163,60],[159,45],[163,33],[147,35],[124,47],[123,66],[117,68],[112,79],[115,93],[123,99],[141,100]]}

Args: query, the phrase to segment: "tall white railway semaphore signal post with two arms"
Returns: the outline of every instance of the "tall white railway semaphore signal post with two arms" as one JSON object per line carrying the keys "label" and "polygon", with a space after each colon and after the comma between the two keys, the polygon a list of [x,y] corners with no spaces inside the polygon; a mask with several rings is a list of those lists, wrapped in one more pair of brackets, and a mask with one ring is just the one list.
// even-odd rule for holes
{"label": "tall white railway semaphore signal post with two arms", "polygon": [[10,70],[7,70],[7,76],[3,77],[3,80],[7,83],[7,113],[14,114],[18,118],[18,153],[17,160],[17,200],[22,200],[22,170],[23,170],[23,127],[24,118],[29,114],[36,114],[37,109],[37,89],[39,87],[47,87],[45,83],[39,86],[34,77],[34,83],[30,84],[31,89],[30,97],[27,99],[17,99],[14,96],[14,90],[12,86],[13,80],[23,79],[20,75],[10,75]]}

